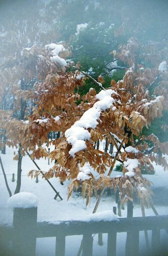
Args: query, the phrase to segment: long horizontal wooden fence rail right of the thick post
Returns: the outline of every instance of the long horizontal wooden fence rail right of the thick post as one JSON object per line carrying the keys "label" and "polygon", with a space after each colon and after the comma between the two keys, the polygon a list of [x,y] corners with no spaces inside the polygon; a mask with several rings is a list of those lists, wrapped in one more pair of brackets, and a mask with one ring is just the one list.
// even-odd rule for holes
{"label": "long horizontal wooden fence rail right of the thick post", "polygon": [[83,235],[83,233],[117,233],[131,232],[135,227],[138,231],[152,230],[153,227],[168,229],[168,215],[120,218],[119,221],[62,221],[59,225],[48,222],[37,223],[37,237],[56,237],[64,231],[65,236]]}

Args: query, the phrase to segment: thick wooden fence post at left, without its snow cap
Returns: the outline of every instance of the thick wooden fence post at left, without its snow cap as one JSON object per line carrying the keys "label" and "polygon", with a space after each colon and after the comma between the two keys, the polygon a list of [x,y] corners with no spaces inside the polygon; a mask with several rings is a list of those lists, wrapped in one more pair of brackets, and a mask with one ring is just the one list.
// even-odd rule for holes
{"label": "thick wooden fence post at left, without its snow cap", "polygon": [[35,256],[36,224],[37,207],[14,208],[13,225],[15,227],[15,236],[13,238],[12,255]]}

